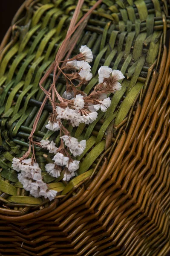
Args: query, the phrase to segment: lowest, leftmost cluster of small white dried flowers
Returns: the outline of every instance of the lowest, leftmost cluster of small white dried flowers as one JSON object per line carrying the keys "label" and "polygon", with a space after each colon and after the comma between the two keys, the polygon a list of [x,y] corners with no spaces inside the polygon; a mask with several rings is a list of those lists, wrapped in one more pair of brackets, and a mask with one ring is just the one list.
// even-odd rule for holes
{"label": "lowest, leftmost cluster of small white dried flowers", "polygon": [[43,182],[41,176],[41,169],[38,163],[32,163],[32,159],[20,160],[13,158],[12,168],[20,172],[18,174],[18,180],[23,184],[23,188],[29,191],[35,198],[44,196],[53,200],[57,194],[57,191],[48,189],[46,183]]}

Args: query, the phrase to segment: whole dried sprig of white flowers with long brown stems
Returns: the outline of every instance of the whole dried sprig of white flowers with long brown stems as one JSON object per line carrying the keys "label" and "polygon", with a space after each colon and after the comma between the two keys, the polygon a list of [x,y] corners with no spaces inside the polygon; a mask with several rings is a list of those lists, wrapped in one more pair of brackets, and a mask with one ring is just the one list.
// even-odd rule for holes
{"label": "whole dried sprig of white flowers with long brown stems", "polygon": [[[107,94],[114,93],[116,90],[121,89],[121,84],[118,80],[124,78],[123,74],[119,70],[112,70],[109,67],[103,66],[98,71],[98,84],[96,84],[92,92],[87,96],[80,90],[80,87],[82,85],[85,86],[88,81],[92,79],[91,66],[89,65],[93,60],[92,50],[86,45],[81,46],[78,55],[69,58],[81,35],[81,30],[86,26],[89,15],[101,2],[102,0],[98,0],[76,24],[81,6],[84,3],[84,0],[78,0],[66,38],[58,50],[55,61],[40,80],[40,88],[46,94],[46,97],[43,100],[29,136],[29,149],[23,157],[14,158],[12,161],[12,168],[20,172],[18,179],[23,184],[23,188],[35,197],[44,196],[51,201],[55,198],[57,191],[50,190],[48,185],[43,182],[41,169],[36,163],[34,145],[41,146],[52,154],[53,163],[48,163],[45,166],[46,172],[49,173],[49,175],[52,177],[60,177],[61,173],[63,173],[63,180],[70,180],[75,176],[75,172],[79,168],[79,161],[74,158],[84,152],[86,140],[78,142],[76,138],[71,137],[62,121],[67,120],[72,126],[78,126],[80,123],[90,124],[97,119],[97,111],[99,109],[105,112],[107,108],[109,108],[111,100],[107,97]],[[66,60],[62,61],[65,55]],[[62,65],[60,66],[61,63]],[[56,75],[57,70],[58,73]],[[49,91],[46,91],[42,83],[52,71],[53,82]],[[66,80],[66,91],[62,96],[55,87],[55,83],[60,74],[63,74]],[[46,128],[52,131],[60,131],[61,141],[58,148],[55,146],[54,141],[33,141],[33,134],[47,99],[51,102],[53,111],[50,114]],[[58,99],[58,102],[56,102],[56,99]],[[31,145],[33,151],[32,158],[27,159],[31,152]]]}

